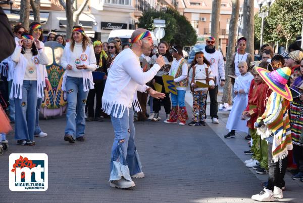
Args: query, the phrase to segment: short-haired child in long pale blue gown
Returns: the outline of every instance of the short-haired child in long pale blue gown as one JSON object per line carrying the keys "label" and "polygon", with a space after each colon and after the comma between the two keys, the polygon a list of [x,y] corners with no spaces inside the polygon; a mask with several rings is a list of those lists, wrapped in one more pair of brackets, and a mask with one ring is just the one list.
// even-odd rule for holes
{"label": "short-haired child in long pale blue gown", "polygon": [[233,106],[228,116],[226,129],[229,133],[224,138],[234,138],[235,131],[242,131],[247,133],[246,121],[241,120],[242,112],[245,110],[248,102],[248,91],[250,82],[254,78],[250,72],[247,72],[247,63],[241,61],[238,64],[240,75],[235,79]]}

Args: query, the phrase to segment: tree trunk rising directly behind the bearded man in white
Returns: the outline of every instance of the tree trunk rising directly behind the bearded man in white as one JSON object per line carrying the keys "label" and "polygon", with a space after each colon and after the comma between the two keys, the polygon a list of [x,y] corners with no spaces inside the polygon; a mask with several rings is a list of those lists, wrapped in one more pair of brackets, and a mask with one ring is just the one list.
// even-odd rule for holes
{"label": "tree trunk rising directly behind the bearded man in white", "polygon": [[216,39],[215,45],[218,50],[219,50],[220,9],[221,9],[221,0],[213,0],[211,35]]}

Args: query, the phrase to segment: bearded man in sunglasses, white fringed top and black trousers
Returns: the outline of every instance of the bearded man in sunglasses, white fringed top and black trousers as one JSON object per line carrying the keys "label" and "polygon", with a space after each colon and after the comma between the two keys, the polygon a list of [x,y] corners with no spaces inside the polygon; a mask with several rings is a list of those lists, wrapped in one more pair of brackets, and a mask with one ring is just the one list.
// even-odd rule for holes
{"label": "bearded man in sunglasses, white fringed top and black trousers", "polygon": [[203,50],[205,58],[211,62],[211,69],[214,75],[215,88],[209,90],[211,99],[211,117],[212,123],[219,124],[218,121],[218,89],[219,85],[223,87],[225,85],[225,70],[223,55],[215,48],[215,38],[210,36],[206,39],[206,47]]}

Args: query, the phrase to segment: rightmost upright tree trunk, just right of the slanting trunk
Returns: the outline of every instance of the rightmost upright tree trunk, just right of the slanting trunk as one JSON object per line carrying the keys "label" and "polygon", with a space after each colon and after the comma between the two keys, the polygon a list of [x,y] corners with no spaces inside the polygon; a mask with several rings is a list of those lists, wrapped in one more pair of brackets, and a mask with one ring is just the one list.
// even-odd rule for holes
{"label": "rightmost upright tree trunk, just right of the slanting trunk", "polygon": [[[255,55],[254,50],[254,33],[255,33],[255,23],[254,23],[254,0],[244,0],[243,3],[243,35],[247,39],[246,52]],[[248,65],[248,64],[247,64]]]}

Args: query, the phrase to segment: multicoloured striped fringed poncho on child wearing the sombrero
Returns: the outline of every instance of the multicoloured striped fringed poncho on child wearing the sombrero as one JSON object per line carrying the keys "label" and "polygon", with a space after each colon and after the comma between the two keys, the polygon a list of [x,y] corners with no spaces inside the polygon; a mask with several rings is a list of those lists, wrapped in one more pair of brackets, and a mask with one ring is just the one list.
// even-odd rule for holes
{"label": "multicoloured striped fringed poncho on child wearing the sombrero", "polygon": [[257,119],[260,123],[264,121],[266,129],[260,128],[257,133],[261,135],[261,139],[267,138],[273,134],[273,161],[277,162],[287,156],[288,150],[292,150],[290,121],[287,109],[288,101],[272,92],[270,95],[265,112]]}

